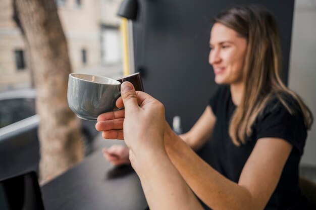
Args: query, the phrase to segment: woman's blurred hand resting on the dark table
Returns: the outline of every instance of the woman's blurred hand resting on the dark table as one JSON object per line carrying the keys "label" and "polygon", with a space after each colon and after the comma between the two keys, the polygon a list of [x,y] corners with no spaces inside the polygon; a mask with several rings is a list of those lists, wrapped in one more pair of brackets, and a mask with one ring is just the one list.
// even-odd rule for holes
{"label": "woman's blurred hand resting on the dark table", "polygon": [[110,148],[103,148],[102,153],[104,158],[114,166],[130,164],[129,148],[126,146],[115,144]]}

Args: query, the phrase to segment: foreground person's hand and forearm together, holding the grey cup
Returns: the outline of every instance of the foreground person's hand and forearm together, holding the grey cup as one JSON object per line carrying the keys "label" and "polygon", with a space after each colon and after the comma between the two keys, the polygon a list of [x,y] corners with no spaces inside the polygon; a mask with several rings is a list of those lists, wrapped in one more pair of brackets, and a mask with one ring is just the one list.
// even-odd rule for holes
{"label": "foreground person's hand and forearm together, holding the grey cup", "polygon": [[[124,140],[150,209],[202,209],[165,150],[163,104],[144,92],[135,92],[128,82],[121,85],[121,93]],[[179,204],[179,200],[185,202]]]}

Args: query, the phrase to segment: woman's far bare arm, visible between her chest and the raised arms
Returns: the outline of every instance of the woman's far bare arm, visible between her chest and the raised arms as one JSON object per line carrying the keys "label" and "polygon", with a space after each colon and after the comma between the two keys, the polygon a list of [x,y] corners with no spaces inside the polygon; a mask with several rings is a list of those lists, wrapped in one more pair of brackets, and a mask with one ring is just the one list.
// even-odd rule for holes
{"label": "woman's far bare arm, visible between her chest and the raised arms", "polygon": [[215,122],[216,117],[210,106],[207,106],[194,126],[187,133],[180,135],[180,138],[196,151],[212,136]]}

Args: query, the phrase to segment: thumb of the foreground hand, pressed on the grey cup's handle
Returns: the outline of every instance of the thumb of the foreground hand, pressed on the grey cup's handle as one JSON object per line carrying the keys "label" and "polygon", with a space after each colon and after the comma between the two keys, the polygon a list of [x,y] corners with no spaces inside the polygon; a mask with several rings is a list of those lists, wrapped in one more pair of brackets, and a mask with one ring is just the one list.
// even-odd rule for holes
{"label": "thumb of the foreground hand, pressed on the grey cup's handle", "polygon": [[121,95],[125,107],[125,112],[138,108],[135,88],[130,82],[123,82],[121,85]]}

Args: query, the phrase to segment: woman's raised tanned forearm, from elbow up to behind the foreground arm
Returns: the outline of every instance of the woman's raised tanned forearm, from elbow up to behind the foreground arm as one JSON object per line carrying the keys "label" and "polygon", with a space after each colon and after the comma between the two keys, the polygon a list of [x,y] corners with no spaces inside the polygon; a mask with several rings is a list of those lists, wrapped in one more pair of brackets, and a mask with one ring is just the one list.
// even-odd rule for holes
{"label": "woman's raised tanned forearm, from elbow up to behind the foreground arm", "polygon": [[214,209],[255,209],[250,192],[207,165],[167,125],[165,147],[193,192]]}

